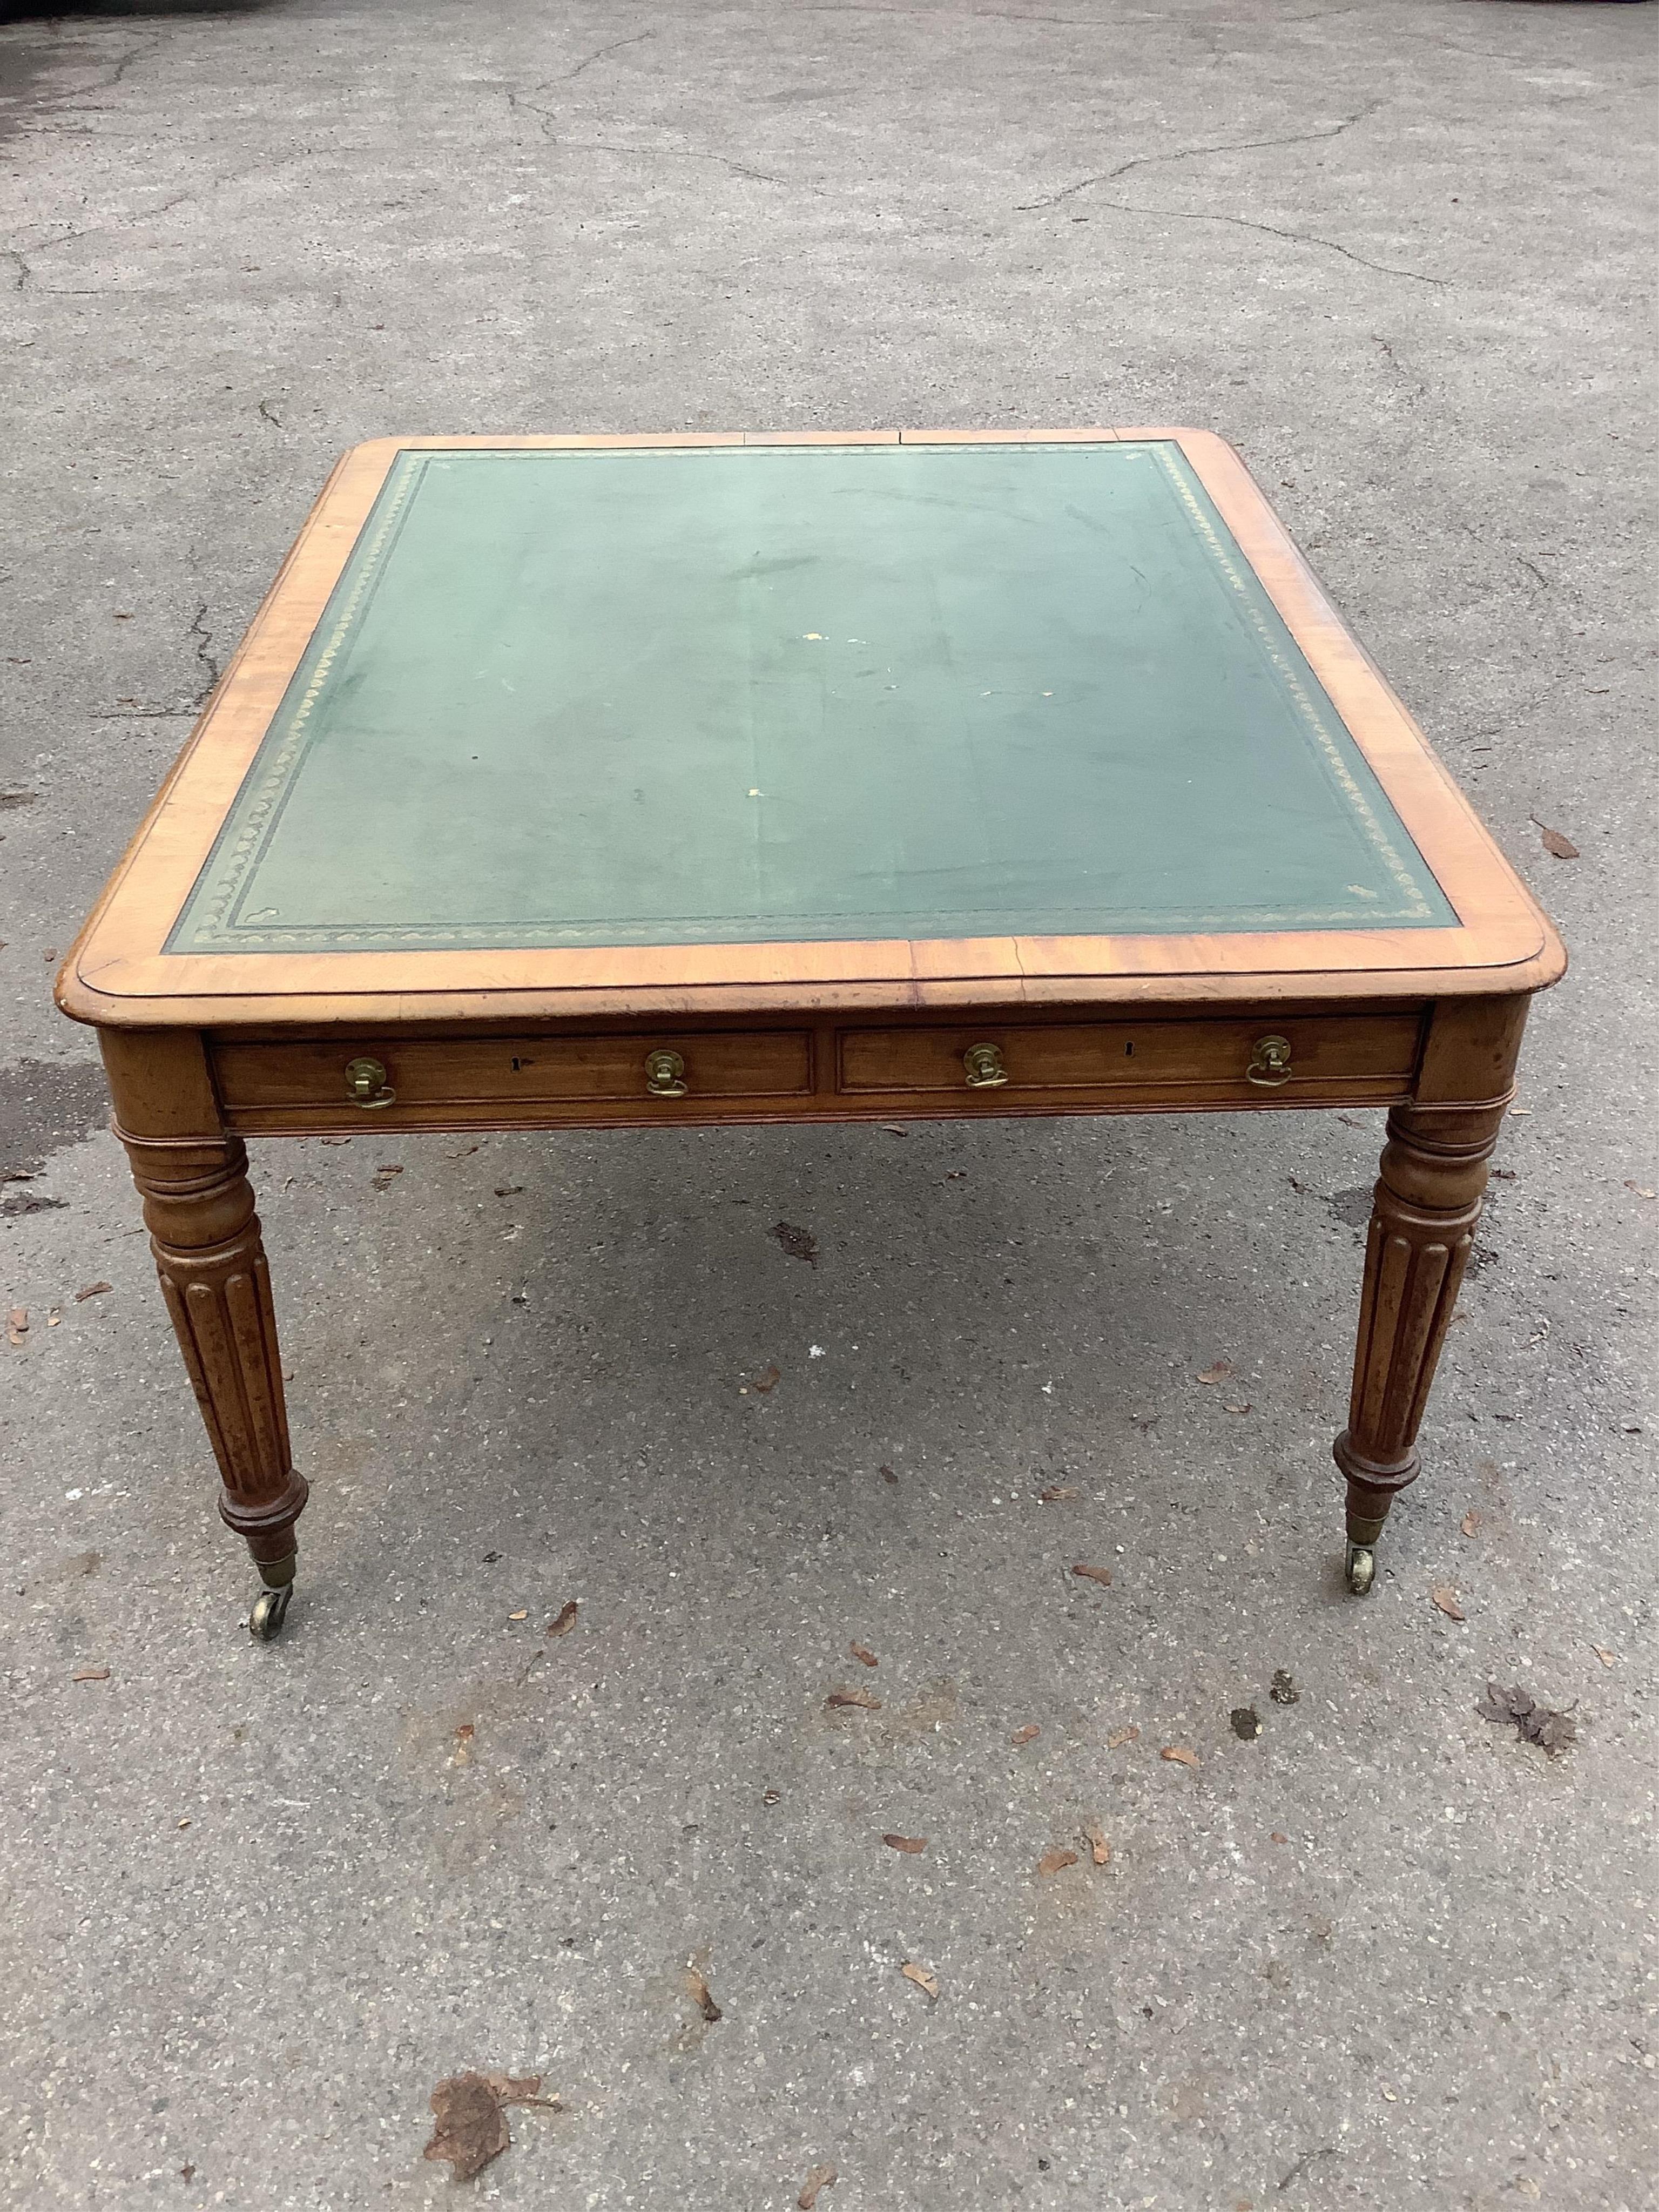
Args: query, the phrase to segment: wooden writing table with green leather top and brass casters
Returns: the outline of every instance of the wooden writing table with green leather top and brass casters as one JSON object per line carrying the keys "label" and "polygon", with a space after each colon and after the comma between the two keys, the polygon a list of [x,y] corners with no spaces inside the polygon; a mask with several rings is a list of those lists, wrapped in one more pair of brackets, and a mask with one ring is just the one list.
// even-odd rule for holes
{"label": "wooden writing table with green leather top and brass casters", "polygon": [[1562,947],[1208,431],[385,438],[58,982],[259,1564],[246,1137],[1387,1106],[1369,1588]]}

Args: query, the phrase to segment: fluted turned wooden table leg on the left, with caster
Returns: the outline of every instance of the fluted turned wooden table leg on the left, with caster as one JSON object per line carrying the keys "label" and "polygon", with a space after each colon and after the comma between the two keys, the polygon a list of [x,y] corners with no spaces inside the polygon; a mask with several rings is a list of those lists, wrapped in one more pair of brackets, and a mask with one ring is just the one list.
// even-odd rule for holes
{"label": "fluted turned wooden table leg on the left, with caster", "polygon": [[294,1522],[305,1482],[288,1451],[270,1270],[241,1137],[204,1144],[126,1139],[161,1292],[212,1438],[219,1513],[261,1573],[250,1626],[281,1628],[294,1584]]}

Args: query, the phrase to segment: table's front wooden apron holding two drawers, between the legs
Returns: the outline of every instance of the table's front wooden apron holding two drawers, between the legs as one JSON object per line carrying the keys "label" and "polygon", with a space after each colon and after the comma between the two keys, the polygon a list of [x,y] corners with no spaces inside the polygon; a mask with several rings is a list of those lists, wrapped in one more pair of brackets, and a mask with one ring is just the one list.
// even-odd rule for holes
{"label": "table's front wooden apron holding two drawers, between the legs", "polygon": [[[398,1029],[208,1035],[241,1135],[633,1128],[980,1115],[1389,1106],[1411,1095],[1425,1009],[1130,1020],[825,1022],[593,1033]],[[347,1066],[374,1062],[354,1099]],[[361,1082],[361,1077],[358,1077]]]}

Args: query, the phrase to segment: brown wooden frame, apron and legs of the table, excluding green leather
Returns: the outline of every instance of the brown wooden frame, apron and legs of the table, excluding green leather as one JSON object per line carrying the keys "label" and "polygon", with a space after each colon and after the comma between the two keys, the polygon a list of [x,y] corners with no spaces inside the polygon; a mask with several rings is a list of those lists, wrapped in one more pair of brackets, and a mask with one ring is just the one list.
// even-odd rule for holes
{"label": "brown wooden frame, apron and legs of the table, excluding green leather", "polygon": [[[1237,456],[1206,431],[1157,436],[1177,436],[1201,471],[1458,929],[166,956],[392,458],[467,440],[380,440],[345,456],[58,984],[62,1009],[100,1031],[221,1513],[270,1584],[292,1575],[305,1482],[243,1137],[354,1130],[367,1115],[392,1133],[1389,1106],[1336,1442],[1349,1540],[1376,1540],[1418,1473],[1528,993],[1562,973],[1564,953]],[[1287,1046],[1283,1082],[1252,1079],[1265,1040]],[[1006,1082],[969,1084],[964,1053],[980,1044],[998,1048]],[[650,1093],[657,1051],[684,1062],[684,1097]],[[345,1068],[361,1057],[385,1066],[392,1104],[354,1102]]]}

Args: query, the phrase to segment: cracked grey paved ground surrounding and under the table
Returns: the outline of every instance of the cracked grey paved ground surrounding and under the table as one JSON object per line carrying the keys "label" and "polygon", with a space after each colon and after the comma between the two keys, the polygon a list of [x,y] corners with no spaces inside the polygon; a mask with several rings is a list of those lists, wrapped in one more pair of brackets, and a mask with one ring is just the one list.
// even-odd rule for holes
{"label": "cracked grey paved ground surrounding and under the table", "polygon": [[[7,11],[7,2205],[436,2205],[462,2068],[562,2101],[469,2185],[551,2212],[1655,2203],[1652,33]],[[1374,1115],[369,1133],[257,1155],[314,1502],[254,1646],[49,982],[332,458],[1159,420],[1573,949],[1378,1593]]]}

